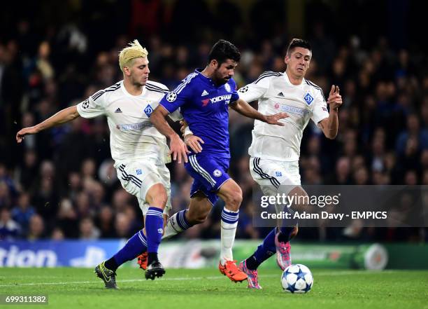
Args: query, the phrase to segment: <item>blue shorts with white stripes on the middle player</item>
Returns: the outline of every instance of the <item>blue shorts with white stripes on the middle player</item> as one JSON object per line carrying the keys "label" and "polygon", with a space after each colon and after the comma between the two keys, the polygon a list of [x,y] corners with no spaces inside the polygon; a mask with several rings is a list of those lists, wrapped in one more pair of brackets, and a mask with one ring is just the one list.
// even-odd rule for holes
{"label": "blue shorts with white stripes on the middle player", "polygon": [[190,196],[192,197],[201,191],[214,205],[218,200],[217,191],[220,186],[230,179],[229,174],[227,174],[229,158],[194,154],[189,156],[189,162],[185,163],[185,169],[194,179]]}

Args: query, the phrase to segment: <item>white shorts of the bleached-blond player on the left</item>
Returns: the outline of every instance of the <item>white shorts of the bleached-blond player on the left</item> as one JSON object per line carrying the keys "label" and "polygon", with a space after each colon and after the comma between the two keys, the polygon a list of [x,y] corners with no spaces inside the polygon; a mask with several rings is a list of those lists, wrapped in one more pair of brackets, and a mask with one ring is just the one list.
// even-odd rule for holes
{"label": "white shorts of the bleached-blond player on the left", "polygon": [[117,178],[120,179],[122,187],[128,193],[136,196],[138,205],[140,205],[144,216],[150,207],[145,202],[145,195],[148,189],[154,184],[163,184],[168,195],[164,214],[169,214],[169,210],[171,210],[171,182],[169,170],[164,163],[154,158],[146,158],[145,160],[137,160],[135,162],[117,162],[115,167]]}

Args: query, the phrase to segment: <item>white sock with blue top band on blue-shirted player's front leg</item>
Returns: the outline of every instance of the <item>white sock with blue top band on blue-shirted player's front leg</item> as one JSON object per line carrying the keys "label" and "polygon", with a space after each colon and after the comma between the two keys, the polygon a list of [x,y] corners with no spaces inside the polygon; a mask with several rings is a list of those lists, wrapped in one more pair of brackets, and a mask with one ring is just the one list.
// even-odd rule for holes
{"label": "white sock with blue top band on blue-shirted player's front leg", "polygon": [[233,261],[232,247],[234,246],[236,227],[238,226],[239,211],[234,212],[223,208],[222,211],[222,241],[220,250],[220,263],[224,265],[226,261]]}

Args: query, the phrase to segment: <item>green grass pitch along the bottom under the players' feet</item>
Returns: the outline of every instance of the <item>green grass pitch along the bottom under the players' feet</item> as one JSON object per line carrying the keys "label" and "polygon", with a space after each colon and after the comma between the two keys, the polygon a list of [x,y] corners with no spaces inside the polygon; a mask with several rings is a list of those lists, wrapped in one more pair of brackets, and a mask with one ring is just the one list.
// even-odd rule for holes
{"label": "green grass pitch along the bottom under the players' feet", "polygon": [[0,308],[426,308],[428,271],[313,270],[308,294],[286,294],[280,270],[259,270],[262,290],[233,283],[217,269],[167,269],[145,280],[136,268],[120,268],[120,289],[106,290],[88,268],[0,268],[0,294],[47,294],[48,305]]}

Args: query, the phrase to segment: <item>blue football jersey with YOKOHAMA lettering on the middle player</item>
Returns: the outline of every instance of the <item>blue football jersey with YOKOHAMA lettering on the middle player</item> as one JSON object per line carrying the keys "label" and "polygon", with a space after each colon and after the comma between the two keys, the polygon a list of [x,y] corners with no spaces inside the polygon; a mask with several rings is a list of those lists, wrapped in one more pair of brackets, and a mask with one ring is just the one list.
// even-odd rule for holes
{"label": "blue football jersey with YOKOHAMA lettering on the middle player", "polygon": [[170,114],[180,107],[190,130],[205,142],[201,145],[201,154],[230,158],[228,109],[229,103],[238,98],[233,78],[216,86],[211,78],[195,70],[176,89],[164,95],[159,104]]}

